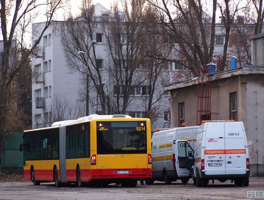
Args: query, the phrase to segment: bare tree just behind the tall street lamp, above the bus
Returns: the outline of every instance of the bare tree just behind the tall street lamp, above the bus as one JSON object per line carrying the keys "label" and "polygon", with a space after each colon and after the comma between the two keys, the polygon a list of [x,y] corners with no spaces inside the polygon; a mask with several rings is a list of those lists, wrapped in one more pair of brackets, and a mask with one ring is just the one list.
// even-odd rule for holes
{"label": "bare tree just behind the tall street lamp, above the bus", "polygon": [[[91,0],[83,0],[80,7],[81,14],[78,17],[68,13],[66,21],[60,24],[61,44],[68,63],[68,68],[71,73],[79,72],[82,75],[81,83],[83,88],[86,87],[86,66],[89,66],[89,93],[91,91],[98,91],[100,85],[103,82],[101,77],[101,66],[97,60],[100,59],[100,55],[96,55],[95,47],[91,48],[91,41],[96,39],[96,31],[98,30],[98,24],[100,23],[94,18],[94,6]],[[91,48],[92,52],[89,52]],[[78,55],[78,51],[84,51],[88,53],[88,60],[86,55]],[[101,107],[104,113],[110,114],[110,101],[107,94],[101,87],[100,101]],[[86,93],[84,90],[80,90],[79,100],[86,102]],[[89,98],[89,104],[95,105],[96,97]],[[93,109],[94,110],[94,109]]]}

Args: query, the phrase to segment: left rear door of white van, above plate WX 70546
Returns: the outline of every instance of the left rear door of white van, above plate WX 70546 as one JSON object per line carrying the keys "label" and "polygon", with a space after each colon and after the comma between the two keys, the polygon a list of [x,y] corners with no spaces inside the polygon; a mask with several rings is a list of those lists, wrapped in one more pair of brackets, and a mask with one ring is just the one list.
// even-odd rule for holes
{"label": "left rear door of white van, above plate WX 70546", "polygon": [[209,122],[205,132],[204,168],[206,175],[225,174],[224,122]]}

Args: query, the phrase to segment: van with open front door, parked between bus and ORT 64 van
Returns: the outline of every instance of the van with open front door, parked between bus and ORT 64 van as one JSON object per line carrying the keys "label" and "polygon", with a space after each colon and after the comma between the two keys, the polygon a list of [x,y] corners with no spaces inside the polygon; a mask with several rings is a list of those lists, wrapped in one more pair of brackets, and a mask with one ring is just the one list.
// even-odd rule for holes
{"label": "van with open front door, parked between bus and ORT 64 van", "polygon": [[[152,184],[155,180],[181,180],[188,183],[193,174],[194,144],[199,126],[179,127],[154,132],[152,142]],[[189,142],[189,143],[188,143]],[[190,172],[191,170],[191,172]]]}

